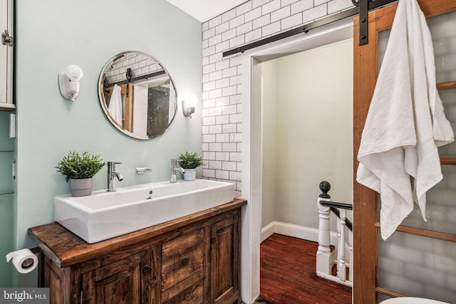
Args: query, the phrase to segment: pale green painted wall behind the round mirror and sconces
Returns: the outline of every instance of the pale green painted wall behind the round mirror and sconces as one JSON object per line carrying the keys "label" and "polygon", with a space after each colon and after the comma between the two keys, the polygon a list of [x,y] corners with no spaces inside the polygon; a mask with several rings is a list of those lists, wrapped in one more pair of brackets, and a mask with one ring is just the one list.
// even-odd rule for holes
{"label": "pale green painted wall behind the round mirror and sconces", "polygon": [[[16,1],[17,179],[14,184],[14,248],[36,246],[27,236],[32,226],[53,221],[53,196],[69,185],[54,167],[69,150],[101,154],[122,162],[118,187],[170,178],[170,159],[202,150],[201,105],[192,119],[182,115],[186,95],[202,95],[201,23],[165,0]],[[155,140],[133,140],[115,130],[98,103],[103,65],[122,51],[142,51],[157,58],[175,80],[175,122]],[[61,97],[58,73],[68,64],[83,69],[75,103]],[[135,167],[150,167],[139,176]],[[105,189],[106,169],[94,177],[94,190]],[[11,209],[11,206],[10,206]],[[14,234],[13,234],[14,235]],[[0,232],[3,243],[10,232]],[[4,267],[0,259],[0,269]],[[36,271],[17,275],[14,285],[36,285]],[[0,276],[8,276],[1,272]]]}

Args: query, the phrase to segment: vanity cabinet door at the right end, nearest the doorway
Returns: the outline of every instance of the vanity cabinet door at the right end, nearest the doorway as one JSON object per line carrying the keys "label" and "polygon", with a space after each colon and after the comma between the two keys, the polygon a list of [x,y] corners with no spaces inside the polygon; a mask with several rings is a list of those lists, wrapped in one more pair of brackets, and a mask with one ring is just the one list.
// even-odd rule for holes
{"label": "vanity cabinet door at the right end, nearest the doorway", "polygon": [[240,303],[239,216],[212,224],[210,267],[210,303]]}

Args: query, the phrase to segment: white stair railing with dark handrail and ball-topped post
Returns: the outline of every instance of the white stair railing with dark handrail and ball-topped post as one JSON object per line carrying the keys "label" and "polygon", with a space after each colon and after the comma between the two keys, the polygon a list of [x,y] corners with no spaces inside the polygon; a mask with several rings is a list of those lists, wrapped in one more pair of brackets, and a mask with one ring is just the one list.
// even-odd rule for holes
{"label": "white stair railing with dark handrail and ball-topped post", "polygon": [[[318,250],[316,253],[316,273],[343,285],[353,285],[353,225],[346,218],[346,211],[352,210],[351,204],[331,201],[328,191],[331,184],[320,183],[321,194],[317,200],[318,206]],[[330,218],[331,211],[336,214],[336,233],[331,232]],[[348,238],[346,237],[348,231]],[[331,234],[336,234],[336,241],[331,244]],[[334,239],[334,238],[333,238]],[[334,246],[331,251],[331,245]],[[348,256],[348,263],[346,263]],[[336,276],[332,274],[333,265],[336,264]],[[348,270],[348,278],[347,278]]]}

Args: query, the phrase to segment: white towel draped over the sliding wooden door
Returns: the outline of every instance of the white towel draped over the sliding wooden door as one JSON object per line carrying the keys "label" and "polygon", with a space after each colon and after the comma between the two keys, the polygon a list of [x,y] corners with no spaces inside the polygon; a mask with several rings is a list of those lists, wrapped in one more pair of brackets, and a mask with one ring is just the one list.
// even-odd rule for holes
{"label": "white towel draped over the sliding wooden door", "polygon": [[454,140],[435,87],[432,38],[416,0],[399,0],[358,151],[356,180],[380,193],[383,239],[442,179],[437,147]]}

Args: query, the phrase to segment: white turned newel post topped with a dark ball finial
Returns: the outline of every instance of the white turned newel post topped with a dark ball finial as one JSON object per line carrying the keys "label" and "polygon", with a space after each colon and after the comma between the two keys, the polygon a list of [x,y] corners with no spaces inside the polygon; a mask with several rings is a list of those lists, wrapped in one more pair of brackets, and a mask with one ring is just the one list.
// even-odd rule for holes
{"label": "white turned newel post topped with a dark ball finial", "polygon": [[[329,190],[330,186],[320,183],[320,189]],[[326,182],[327,183],[327,182]],[[323,185],[322,185],[323,184]],[[329,185],[329,183],[327,183]],[[323,187],[323,189],[322,189]],[[331,244],[330,233],[329,233],[329,215],[331,209],[328,206],[322,206],[320,201],[331,201],[331,196],[326,193],[320,194],[317,199],[317,208],[318,208],[318,250],[316,252],[316,272],[325,273],[327,275],[331,274]]]}

